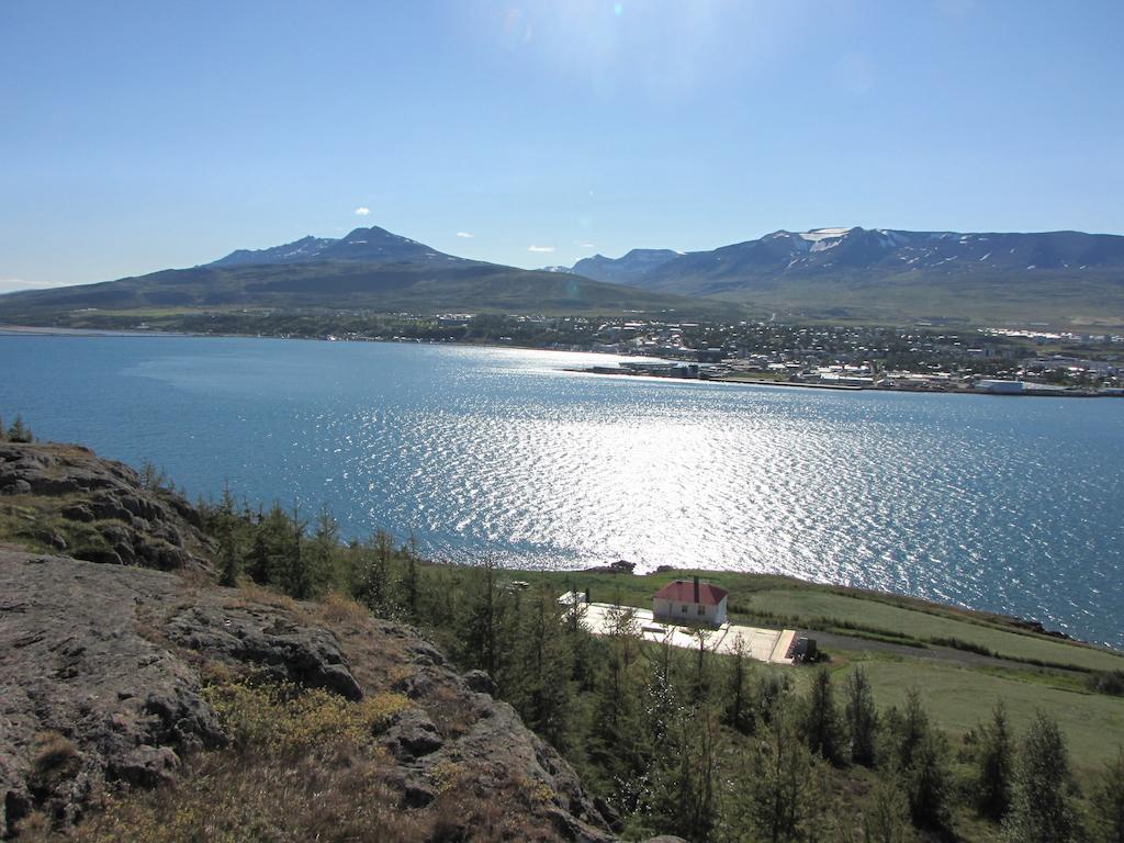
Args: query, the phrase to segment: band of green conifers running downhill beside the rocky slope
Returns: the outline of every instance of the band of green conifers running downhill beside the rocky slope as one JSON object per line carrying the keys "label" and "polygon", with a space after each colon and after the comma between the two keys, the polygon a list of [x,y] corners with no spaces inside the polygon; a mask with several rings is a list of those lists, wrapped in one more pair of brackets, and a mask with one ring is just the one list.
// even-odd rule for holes
{"label": "band of green conifers running downhill beside the rocky slope", "polygon": [[880,709],[861,667],[840,686],[826,668],[716,655],[705,629],[692,650],[647,644],[628,607],[597,637],[580,604],[489,560],[427,563],[383,532],[341,543],[327,511],[252,509],[229,493],[201,510],[224,583],[341,591],[487,671],[626,837],[951,841],[970,823],[1012,843],[1124,841],[1124,754],[1082,795],[1045,714],[1016,735],[998,704],[954,751],[916,690]]}

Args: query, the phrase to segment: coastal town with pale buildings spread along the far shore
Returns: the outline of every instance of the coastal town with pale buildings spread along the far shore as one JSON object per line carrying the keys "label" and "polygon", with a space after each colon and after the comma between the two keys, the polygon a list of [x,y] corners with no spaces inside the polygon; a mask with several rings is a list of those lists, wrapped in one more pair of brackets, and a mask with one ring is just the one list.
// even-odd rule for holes
{"label": "coastal town with pale buildings spread along the far shore", "polygon": [[[446,325],[454,318],[443,317]],[[468,325],[472,317],[461,318]],[[662,320],[587,321],[580,332],[579,319],[565,321],[589,343],[573,350],[653,359],[581,370],[596,374],[849,390],[1124,397],[1124,335],[1116,334]]]}

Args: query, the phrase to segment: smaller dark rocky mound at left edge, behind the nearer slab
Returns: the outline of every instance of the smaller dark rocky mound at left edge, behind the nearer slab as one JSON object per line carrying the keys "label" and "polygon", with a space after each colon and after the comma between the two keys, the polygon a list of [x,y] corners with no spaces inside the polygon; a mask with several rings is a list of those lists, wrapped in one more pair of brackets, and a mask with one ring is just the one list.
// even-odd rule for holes
{"label": "smaller dark rocky mound at left edge, behind the nearer slab", "polygon": [[78,445],[0,443],[0,538],[90,562],[206,568],[199,513]]}

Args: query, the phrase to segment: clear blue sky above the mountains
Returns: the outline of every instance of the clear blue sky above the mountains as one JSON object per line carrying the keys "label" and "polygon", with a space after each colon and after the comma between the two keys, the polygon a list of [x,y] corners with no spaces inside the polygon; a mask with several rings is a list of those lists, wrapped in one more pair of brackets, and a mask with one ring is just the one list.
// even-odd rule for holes
{"label": "clear blue sky above the mountains", "polygon": [[518,266],[1124,234],[1122,31],[1118,0],[0,0],[0,290],[360,225]]}

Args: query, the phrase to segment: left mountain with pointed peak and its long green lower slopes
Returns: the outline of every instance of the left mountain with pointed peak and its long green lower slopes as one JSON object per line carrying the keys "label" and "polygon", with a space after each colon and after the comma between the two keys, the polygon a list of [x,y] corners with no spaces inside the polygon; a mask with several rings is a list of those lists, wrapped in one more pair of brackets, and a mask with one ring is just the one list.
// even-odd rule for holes
{"label": "left mountain with pointed peak and its long green lower slopes", "polygon": [[190,269],[8,293],[0,296],[0,323],[107,325],[123,314],[147,318],[245,308],[697,318],[724,311],[718,302],[447,255],[372,226],[339,239],[309,236],[272,248],[238,250]]}

